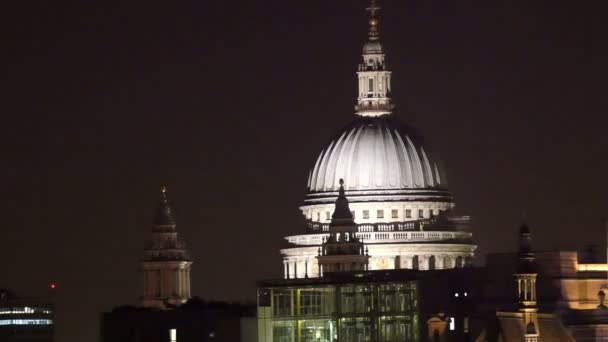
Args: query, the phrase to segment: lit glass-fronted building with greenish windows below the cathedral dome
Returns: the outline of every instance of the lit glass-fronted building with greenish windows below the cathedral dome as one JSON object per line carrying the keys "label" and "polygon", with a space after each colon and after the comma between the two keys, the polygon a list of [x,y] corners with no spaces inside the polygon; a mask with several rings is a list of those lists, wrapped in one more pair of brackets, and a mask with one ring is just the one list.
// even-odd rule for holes
{"label": "lit glass-fronted building with greenish windows below the cathedral dome", "polygon": [[415,281],[269,287],[259,296],[260,342],[420,341]]}

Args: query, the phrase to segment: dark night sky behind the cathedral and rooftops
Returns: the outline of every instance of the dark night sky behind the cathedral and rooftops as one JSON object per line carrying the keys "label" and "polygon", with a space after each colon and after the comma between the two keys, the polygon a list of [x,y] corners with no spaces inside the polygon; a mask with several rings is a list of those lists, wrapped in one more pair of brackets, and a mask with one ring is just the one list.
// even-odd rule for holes
{"label": "dark night sky behind the cathedral and rooftops", "polygon": [[[167,184],[193,293],[253,300],[353,117],[366,1],[21,3],[0,11],[0,286],[58,282],[59,341],[95,341],[100,312],[135,302]],[[540,249],[603,243],[606,5],[383,2],[397,115],[439,152],[480,255],[514,248],[523,211]]]}

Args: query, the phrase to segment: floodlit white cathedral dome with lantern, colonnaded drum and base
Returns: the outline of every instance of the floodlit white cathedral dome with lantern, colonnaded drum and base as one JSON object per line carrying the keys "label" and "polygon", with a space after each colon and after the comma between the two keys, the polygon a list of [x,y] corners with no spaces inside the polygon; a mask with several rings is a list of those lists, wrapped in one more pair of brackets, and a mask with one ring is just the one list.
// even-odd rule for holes
{"label": "floodlit white cathedral dome with lantern, colonnaded drum and base", "polygon": [[393,113],[377,10],[370,7],[369,36],[357,68],[356,115],[309,173],[300,207],[306,231],[287,236],[290,247],[281,250],[285,278],[319,276],[317,252],[329,236],[340,179],[356,236],[369,248],[370,270],[464,267],[474,256],[469,218],[451,213],[455,203],[441,164],[425,139]]}

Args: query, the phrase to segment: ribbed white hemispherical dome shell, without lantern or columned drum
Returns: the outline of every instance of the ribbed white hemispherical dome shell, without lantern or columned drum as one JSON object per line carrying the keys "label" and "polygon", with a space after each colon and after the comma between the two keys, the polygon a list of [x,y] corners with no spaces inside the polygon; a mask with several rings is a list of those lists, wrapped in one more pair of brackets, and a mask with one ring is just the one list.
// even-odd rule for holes
{"label": "ribbed white hemispherical dome shell, without lantern or columned drum", "polygon": [[445,189],[446,180],[424,140],[394,115],[357,117],[321,152],[310,192]]}

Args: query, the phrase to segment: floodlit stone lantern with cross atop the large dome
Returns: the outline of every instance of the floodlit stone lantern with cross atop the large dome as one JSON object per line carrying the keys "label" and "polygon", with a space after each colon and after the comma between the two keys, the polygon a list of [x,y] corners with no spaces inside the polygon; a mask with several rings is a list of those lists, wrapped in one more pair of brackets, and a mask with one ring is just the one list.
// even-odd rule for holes
{"label": "floodlit stone lantern with cross atop the large dome", "polygon": [[355,112],[361,116],[381,116],[391,114],[394,107],[390,99],[391,72],[387,69],[378,33],[376,12],[380,7],[377,0],[371,0],[367,10],[370,13],[369,33],[363,46],[363,62],[357,70],[359,96]]}

